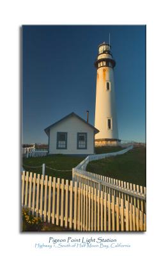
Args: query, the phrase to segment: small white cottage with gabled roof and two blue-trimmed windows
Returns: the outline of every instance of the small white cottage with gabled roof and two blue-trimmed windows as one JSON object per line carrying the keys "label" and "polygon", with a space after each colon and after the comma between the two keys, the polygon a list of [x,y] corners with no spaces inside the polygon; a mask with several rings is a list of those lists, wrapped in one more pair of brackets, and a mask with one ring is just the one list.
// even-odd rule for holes
{"label": "small white cottage with gabled roof and two blue-trimmed windows", "polygon": [[70,113],[44,130],[49,136],[49,154],[94,154],[95,134],[93,125],[75,113]]}

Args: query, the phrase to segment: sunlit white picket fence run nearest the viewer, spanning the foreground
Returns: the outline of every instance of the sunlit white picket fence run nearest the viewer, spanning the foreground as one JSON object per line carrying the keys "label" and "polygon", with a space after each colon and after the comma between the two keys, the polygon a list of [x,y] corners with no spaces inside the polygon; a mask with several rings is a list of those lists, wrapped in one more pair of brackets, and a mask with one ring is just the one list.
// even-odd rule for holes
{"label": "sunlit white picket fence run nearest the viewer, spanning the foreground", "polygon": [[22,206],[43,221],[72,230],[146,230],[146,214],[129,197],[73,180],[56,182],[56,177],[22,172]]}

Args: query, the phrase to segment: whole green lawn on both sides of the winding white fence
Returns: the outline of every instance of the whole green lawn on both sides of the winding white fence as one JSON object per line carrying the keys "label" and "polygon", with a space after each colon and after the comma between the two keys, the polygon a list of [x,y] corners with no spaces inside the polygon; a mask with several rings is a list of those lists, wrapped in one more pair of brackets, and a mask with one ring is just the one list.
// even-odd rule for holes
{"label": "whole green lawn on both sides of the winding white fence", "polygon": [[[122,149],[121,147],[96,147],[95,153],[103,154]],[[29,168],[27,166],[42,166],[45,163],[46,166],[56,170],[70,170],[70,172],[56,172],[46,167],[46,175],[72,180],[72,168],[77,166],[84,158],[64,155],[23,158],[23,167],[26,171],[42,174],[42,167]],[[114,179],[146,186],[146,148],[134,148],[121,156],[92,161],[88,164],[87,170]]]}

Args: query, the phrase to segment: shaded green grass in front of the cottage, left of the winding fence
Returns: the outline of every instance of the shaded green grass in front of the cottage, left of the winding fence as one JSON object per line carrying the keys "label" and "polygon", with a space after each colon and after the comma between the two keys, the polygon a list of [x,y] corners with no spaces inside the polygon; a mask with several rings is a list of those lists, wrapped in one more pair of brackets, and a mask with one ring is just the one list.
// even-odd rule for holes
{"label": "shaded green grass in front of the cottage, left of the winding fence", "polygon": [[42,166],[42,164],[45,163],[46,166],[56,170],[71,170],[71,172],[56,172],[46,167],[45,175],[72,180],[72,168],[77,166],[77,164],[79,164],[84,158],[85,157],[78,156],[52,155],[45,157],[23,158],[22,162],[26,171],[40,174],[42,174],[42,167],[29,168],[27,166]]}

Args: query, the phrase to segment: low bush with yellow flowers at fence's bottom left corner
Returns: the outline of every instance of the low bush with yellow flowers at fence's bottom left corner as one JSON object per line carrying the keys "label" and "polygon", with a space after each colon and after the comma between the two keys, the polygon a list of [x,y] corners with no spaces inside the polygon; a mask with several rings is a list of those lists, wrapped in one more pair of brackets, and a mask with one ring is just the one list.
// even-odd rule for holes
{"label": "low bush with yellow flowers at fence's bottom left corner", "polygon": [[42,228],[41,218],[33,216],[28,208],[22,208],[22,231],[41,231]]}

